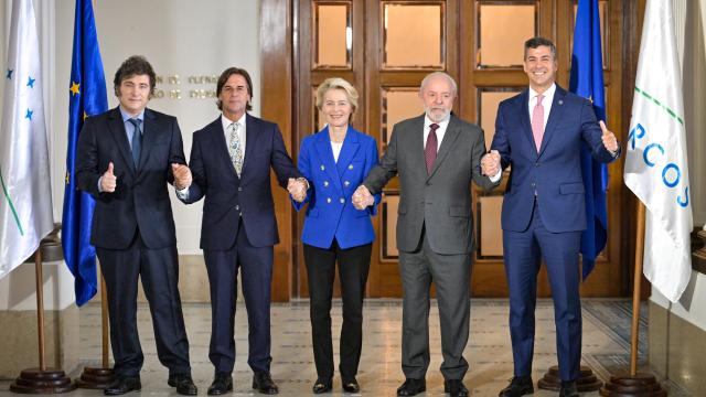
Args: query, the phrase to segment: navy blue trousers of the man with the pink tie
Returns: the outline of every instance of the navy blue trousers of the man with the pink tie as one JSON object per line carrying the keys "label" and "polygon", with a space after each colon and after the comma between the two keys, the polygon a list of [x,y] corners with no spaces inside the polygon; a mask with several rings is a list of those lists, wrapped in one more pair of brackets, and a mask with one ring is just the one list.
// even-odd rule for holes
{"label": "navy blue trousers of the man with the pink tie", "polygon": [[561,380],[575,380],[579,376],[581,303],[578,254],[580,238],[580,232],[547,230],[542,223],[542,214],[536,202],[526,230],[503,230],[515,376],[532,374],[534,310],[537,299],[537,272],[542,258],[547,267],[554,300],[559,374]]}

